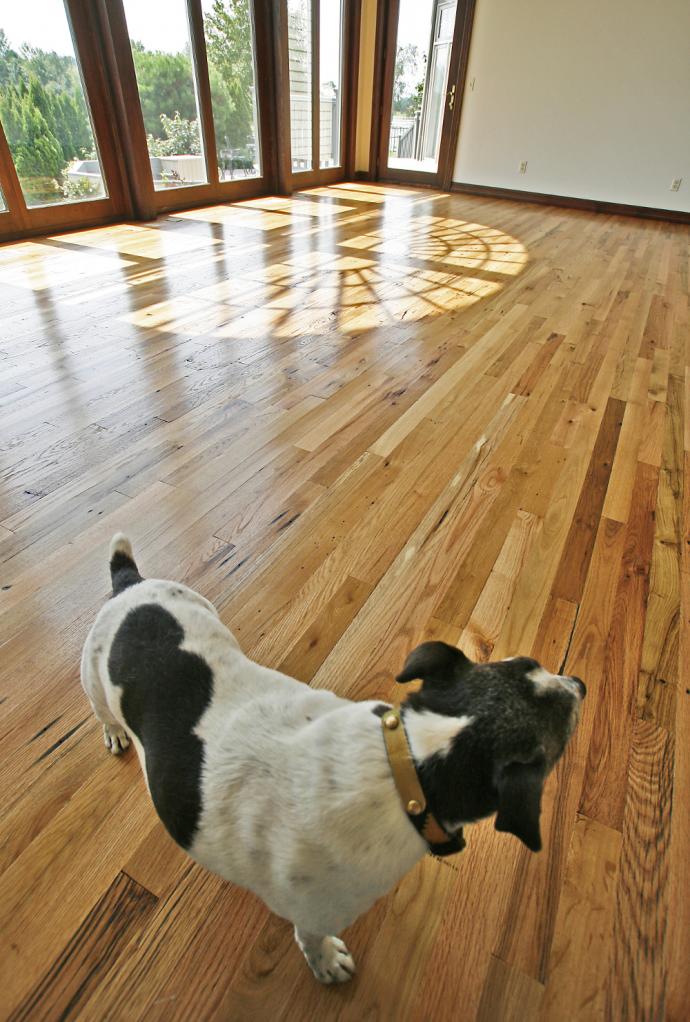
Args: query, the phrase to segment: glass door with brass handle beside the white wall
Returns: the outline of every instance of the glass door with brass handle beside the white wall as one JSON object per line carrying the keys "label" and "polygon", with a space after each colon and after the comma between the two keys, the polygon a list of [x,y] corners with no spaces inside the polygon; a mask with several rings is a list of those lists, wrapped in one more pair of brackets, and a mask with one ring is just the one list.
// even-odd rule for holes
{"label": "glass door with brass handle beside the white wall", "polygon": [[441,185],[453,156],[458,76],[469,4],[392,0],[378,176]]}

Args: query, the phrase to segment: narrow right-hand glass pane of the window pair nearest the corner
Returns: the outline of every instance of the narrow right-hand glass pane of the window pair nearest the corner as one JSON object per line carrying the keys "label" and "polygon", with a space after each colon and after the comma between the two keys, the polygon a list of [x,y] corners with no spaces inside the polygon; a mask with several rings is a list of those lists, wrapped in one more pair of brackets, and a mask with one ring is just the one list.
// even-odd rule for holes
{"label": "narrow right-hand glass pane of the window pair nearest the corner", "polygon": [[342,107],[342,3],[320,0],[319,17],[320,166],[340,166]]}

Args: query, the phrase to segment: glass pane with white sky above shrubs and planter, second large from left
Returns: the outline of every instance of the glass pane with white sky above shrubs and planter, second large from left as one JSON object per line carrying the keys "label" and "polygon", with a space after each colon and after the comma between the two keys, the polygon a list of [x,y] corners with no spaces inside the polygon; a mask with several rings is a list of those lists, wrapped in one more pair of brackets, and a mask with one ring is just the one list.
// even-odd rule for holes
{"label": "glass pane with white sky above shrubs and planter, second large from left", "polygon": [[186,0],[124,0],[153,187],[205,184]]}

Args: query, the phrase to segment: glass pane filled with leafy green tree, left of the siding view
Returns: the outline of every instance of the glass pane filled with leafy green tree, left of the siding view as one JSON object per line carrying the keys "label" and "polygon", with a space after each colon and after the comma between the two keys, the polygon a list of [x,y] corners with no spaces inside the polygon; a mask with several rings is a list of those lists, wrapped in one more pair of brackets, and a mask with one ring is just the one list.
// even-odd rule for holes
{"label": "glass pane filled with leafy green tree, left of the siding view", "polygon": [[257,47],[250,0],[201,0],[221,181],[261,177]]}

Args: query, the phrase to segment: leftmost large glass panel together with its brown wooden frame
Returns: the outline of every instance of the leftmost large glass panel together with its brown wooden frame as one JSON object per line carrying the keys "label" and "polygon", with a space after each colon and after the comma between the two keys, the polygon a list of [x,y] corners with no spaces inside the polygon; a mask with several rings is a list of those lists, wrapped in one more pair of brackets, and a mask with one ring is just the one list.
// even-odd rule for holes
{"label": "leftmost large glass panel together with its brown wooden frame", "polygon": [[[0,232],[65,227],[122,208],[112,140],[89,90],[102,87],[89,12],[63,0],[0,9]],[[84,58],[82,58],[84,54]],[[11,220],[11,225],[10,225]]]}

